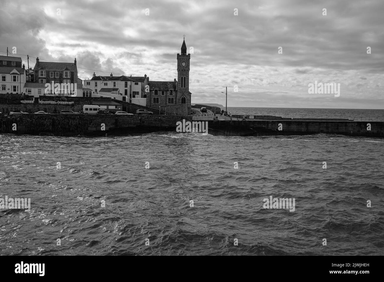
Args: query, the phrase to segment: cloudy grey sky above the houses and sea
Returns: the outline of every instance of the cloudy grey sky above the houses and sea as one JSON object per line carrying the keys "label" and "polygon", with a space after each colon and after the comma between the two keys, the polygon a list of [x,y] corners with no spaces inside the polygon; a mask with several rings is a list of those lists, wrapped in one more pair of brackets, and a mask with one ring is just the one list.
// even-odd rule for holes
{"label": "cloudy grey sky above the houses and sea", "polygon": [[[81,79],[173,81],[185,34],[192,103],[225,105],[228,86],[228,107],[384,109],[382,0],[25,3],[0,0],[0,51],[32,68],[76,56]],[[340,96],[309,94],[315,81],[340,83]]]}

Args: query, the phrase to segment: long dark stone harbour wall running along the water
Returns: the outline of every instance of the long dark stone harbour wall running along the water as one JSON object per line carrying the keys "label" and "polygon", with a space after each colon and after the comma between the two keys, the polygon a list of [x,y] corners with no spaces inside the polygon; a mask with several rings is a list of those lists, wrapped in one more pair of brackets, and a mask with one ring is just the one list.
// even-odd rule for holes
{"label": "long dark stone harbour wall running along the water", "polygon": [[[52,135],[118,135],[176,131],[180,115],[25,114],[1,117],[0,133]],[[204,120],[201,120],[204,121]],[[384,137],[384,122],[346,120],[207,120],[208,133],[223,136],[340,134]]]}

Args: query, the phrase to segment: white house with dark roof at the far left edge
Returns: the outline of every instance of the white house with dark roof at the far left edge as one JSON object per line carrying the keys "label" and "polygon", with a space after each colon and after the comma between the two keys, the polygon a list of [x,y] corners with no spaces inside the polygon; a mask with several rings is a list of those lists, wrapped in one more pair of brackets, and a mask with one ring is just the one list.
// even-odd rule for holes
{"label": "white house with dark roof at the far left edge", "polygon": [[22,59],[0,56],[0,94],[20,94],[23,92],[26,75]]}

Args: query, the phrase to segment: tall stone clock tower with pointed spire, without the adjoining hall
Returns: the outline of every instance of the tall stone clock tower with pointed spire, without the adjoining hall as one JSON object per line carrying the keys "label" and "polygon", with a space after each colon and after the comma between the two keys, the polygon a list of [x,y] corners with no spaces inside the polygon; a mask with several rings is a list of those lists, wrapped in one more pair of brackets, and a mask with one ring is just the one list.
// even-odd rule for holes
{"label": "tall stone clock tower with pointed spire, without the adjoining hall", "polygon": [[187,104],[188,114],[191,112],[191,92],[189,92],[189,60],[185,40],[181,46],[181,53],[177,54],[177,104]]}

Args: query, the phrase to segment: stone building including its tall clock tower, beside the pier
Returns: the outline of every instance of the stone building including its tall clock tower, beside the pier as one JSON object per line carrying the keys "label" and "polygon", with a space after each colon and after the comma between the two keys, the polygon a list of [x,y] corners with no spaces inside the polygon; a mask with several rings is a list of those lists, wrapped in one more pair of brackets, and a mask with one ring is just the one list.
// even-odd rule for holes
{"label": "stone building including its tall clock tower, beside the pier", "polygon": [[189,92],[189,61],[185,40],[181,46],[181,53],[177,54],[177,80],[148,81],[146,91],[148,107],[165,107],[187,104],[187,114],[191,112],[191,92]]}

